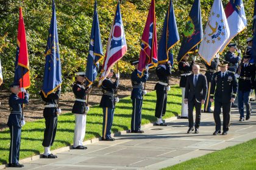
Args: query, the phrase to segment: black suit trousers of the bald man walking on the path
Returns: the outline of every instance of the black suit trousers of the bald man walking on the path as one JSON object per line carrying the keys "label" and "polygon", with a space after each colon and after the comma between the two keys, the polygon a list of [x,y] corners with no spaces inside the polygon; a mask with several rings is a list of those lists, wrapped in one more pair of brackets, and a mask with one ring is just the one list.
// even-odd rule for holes
{"label": "black suit trousers of the bald man walking on the path", "polygon": [[[200,120],[201,120],[201,101],[197,102],[196,98],[193,98],[192,101],[188,101],[188,127],[196,127],[198,128],[200,126]],[[194,118],[193,118],[193,110],[194,107],[196,108],[196,123],[194,124]]]}

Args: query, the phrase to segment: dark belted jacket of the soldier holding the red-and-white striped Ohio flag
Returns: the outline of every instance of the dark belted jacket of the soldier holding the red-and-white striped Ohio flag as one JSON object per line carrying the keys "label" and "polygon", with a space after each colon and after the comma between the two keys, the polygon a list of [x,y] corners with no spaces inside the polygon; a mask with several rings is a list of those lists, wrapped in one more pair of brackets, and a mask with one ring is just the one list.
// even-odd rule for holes
{"label": "dark belted jacket of the soldier holding the red-and-white striped Ohio flag", "polygon": [[116,89],[119,85],[119,78],[113,83],[110,78],[105,78],[102,81],[102,98],[101,103],[99,104],[100,107],[108,107],[108,108],[115,108],[115,97],[116,97]]}

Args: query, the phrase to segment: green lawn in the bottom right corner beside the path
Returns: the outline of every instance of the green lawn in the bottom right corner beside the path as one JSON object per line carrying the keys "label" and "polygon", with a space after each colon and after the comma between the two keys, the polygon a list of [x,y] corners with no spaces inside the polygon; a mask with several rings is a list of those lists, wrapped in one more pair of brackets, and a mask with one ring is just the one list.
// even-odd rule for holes
{"label": "green lawn in the bottom right corner beside the path", "polygon": [[168,169],[256,169],[256,139],[164,168]]}

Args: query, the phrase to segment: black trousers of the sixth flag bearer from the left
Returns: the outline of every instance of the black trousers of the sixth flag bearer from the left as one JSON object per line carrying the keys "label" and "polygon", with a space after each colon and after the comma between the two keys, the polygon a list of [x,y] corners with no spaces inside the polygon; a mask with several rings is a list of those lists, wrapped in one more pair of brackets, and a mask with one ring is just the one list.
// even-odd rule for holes
{"label": "black trousers of the sixth flag bearer from the left", "polygon": [[157,104],[155,106],[155,117],[162,118],[166,112],[167,103],[167,91],[166,90],[156,90],[157,92]]}

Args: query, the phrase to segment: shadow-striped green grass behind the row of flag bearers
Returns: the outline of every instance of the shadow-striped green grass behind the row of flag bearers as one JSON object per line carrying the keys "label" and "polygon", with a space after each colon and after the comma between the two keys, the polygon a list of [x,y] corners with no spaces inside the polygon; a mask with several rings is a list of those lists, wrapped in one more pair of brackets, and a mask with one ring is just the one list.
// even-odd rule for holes
{"label": "shadow-striped green grass behind the row of flag bearers", "polygon": [[[149,92],[143,101],[141,124],[151,123],[156,120],[154,114],[156,94]],[[181,90],[179,86],[171,87],[168,92],[168,103],[164,118],[174,117],[180,114],[181,110]],[[42,110],[43,114],[43,110]],[[116,104],[115,116],[113,120],[112,132],[130,129],[132,115],[132,100],[130,97],[123,98]],[[87,115],[87,129],[85,140],[101,137],[102,135],[102,108],[98,105],[90,107]],[[58,118],[57,134],[51,150],[62,148],[73,144],[74,135],[74,115],[63,114]],[[34,122],[27,122],[21,130],[20,159],[43,153],[43,131],[44,119]],[[10,131],[0,132],[0,165],[8,163],[10,147]]]}

